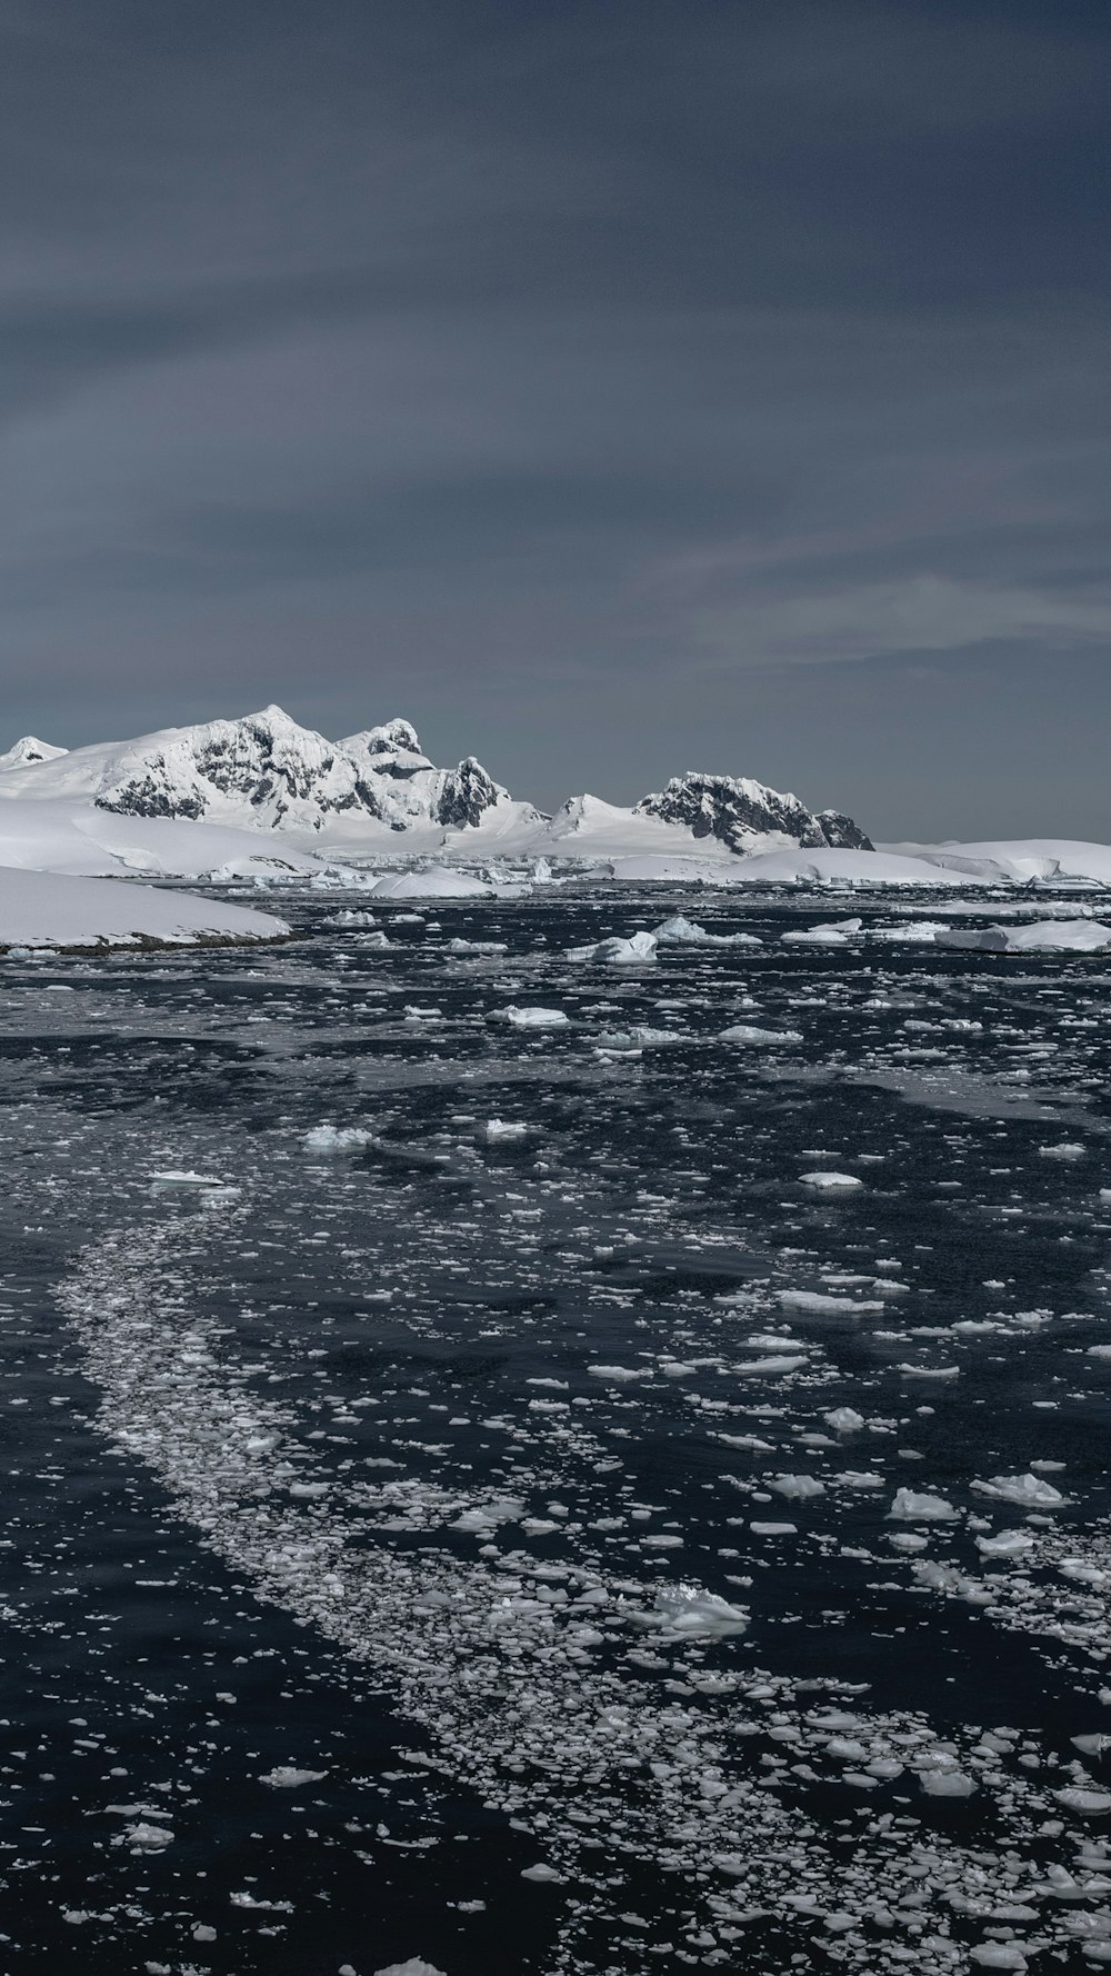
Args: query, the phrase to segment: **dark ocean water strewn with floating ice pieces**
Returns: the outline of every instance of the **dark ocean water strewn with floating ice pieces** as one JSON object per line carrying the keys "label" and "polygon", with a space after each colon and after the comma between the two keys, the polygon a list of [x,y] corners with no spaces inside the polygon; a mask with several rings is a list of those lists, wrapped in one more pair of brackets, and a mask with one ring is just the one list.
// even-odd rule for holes
{"label": "dark ocean water strewn with floating ice pieces", "polygon": [[0,1970],[1111,1962],[1105,960],[342,905],[0,964]]}

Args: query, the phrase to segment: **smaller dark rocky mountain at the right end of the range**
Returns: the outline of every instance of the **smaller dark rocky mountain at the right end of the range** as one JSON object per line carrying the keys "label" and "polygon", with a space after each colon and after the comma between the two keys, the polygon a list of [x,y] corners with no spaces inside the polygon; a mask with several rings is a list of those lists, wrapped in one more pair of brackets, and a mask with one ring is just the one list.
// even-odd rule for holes
{"label": "smaller dark rocky mountain at the right end of the range", "polygon": [[799,850],[862,850],[872,844],[860,824],[840,810],[814,814],[799,796],[781,794],[749,777],[733,775],[672,775],[656,796],[644,796],[637,816],[656,816],[664,824],[682,824],[696,838],[718,838],[731,852],[767,850],[767,840]]}

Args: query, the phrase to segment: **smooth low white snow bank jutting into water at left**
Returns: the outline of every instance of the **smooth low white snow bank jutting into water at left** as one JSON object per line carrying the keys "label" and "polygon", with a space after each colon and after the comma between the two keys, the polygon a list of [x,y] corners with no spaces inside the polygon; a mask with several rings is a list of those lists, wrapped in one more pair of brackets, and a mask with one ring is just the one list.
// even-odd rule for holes
{"label": "smooth low white snow bank jutting into water at left", "polygon": [[245,905],[111,877],[0,869],[0,947],[134,947],[144,941],[281,941],[283,919]]}

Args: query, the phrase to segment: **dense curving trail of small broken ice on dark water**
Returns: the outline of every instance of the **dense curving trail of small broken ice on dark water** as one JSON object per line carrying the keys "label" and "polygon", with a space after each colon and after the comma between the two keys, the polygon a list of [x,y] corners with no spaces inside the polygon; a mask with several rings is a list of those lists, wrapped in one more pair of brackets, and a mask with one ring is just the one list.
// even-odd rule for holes
{"label": "dense curving trail of small broken ice on dark water", "polygon": [[[743,1628],[698,1587],[648,1605],[648,1589],[595,1567],[554,1585],[520,1549],[470,1563],[376,1545],[358,1486],[320,1480],[293,1409],[257,1397],[192,1308],[198,1255],[196,1223],[140,1225],[91,1247],[61,1286],[101,1431],[259,1599],[360,1662],[488,1808],[536,1836],[524,1879],[565,1887],[544,1976],[646,1976],[670,1952],[785,1966],[809,1946],[860,1976],[1022,1970],[1071,1946],[1111,1962],[1111,1859],[1091,1838],[1111,1798],[1079,1759],[1040,1759],[1032,1774],[1018,1731],[939,1737],[842,1682],[737,1672],[727,1646],[718,1666],[672,1666],[666,1652],[692,1636]],[[457,1529],[490,1535],[514,1516],[486,1502]],[[814,1786],[848,1784],[868,1804],[892,1780],[921,1822],[899,1830],[888,1810],[838,1848]],[[951,1800],[983,1806],[988,1828],[951,1836]],[[656,1903],[654,1919],[633,1901]]]}

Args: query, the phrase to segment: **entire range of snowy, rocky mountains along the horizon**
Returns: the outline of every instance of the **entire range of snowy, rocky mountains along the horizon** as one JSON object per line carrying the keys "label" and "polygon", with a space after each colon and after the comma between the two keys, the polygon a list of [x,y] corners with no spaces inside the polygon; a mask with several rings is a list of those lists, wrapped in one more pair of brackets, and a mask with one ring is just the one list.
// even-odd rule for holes
{"label": "entire range of snowy, rocky mountains along the horizon", "polygon": [[747,777],[676,775],[633,808],[571,796],[556,816],[518,802],[474,755],[437,769],[409,721],[344,741],[299,727],[281,707],[235,721],[166,727],[134,741],[67,753],[26,735],[0,755],[0,800],[63,800],[117,816],[184,818],[283,832],[312,848],[498,852],[702,850],[745,856],[775,848],[872,850],[838,810]]}

